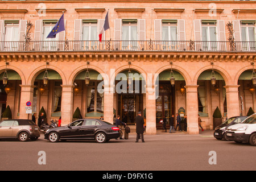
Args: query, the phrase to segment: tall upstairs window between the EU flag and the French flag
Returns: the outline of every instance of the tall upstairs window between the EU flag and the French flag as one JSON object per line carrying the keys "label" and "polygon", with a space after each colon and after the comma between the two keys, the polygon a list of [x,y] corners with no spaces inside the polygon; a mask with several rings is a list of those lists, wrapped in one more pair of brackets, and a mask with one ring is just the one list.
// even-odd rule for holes
{"label": "tall upstairs window between the EU flag and the French flag", "polygon": [[82,20],[82,50],[93,50],[97,46],[97,19],[96,20]]}

